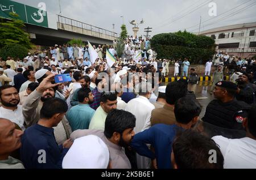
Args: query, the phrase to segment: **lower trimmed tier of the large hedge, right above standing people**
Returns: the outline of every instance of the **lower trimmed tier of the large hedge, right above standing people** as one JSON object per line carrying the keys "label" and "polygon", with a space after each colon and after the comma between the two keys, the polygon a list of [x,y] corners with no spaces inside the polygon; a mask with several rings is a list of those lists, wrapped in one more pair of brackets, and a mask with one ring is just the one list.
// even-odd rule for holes
{"label": "lower trimmed tier of the large hedge, right above standing people", "polygon": [[214,50],[187,48],[184,46],[158,45],[155,49],[158,53],[158,59],[188,58],[189,62],[194,64],[197,64],[200,61],[202,61],[201,63],[206,63],[214,54]]}

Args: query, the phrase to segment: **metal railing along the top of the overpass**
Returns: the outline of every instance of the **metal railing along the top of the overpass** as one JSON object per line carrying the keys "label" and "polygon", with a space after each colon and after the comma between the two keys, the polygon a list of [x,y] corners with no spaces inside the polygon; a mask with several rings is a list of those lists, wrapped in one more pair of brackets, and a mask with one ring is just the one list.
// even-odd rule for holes
{"label": "metal railing along the top of the overpass", "polygon": [[118,34],[115,32],[108,31],[106,29],[102,29],[90,24],[82,23],[77,20],[66,18],[60,15],[58,15],[57,27],[65,31],[72,31],[88,36],[105,38],[112,41],[118,37]]}

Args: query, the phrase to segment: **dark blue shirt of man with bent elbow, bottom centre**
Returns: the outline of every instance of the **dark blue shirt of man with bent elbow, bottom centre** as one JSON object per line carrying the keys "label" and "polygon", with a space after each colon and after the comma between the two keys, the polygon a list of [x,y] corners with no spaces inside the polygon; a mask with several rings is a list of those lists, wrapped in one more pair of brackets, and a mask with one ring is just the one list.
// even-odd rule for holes
{"label": "dark blue shirt of man with bent elbow, bottom centre", "polygon": [[[172,168],[172,142],[178,130],[183,130],[183,128],[176,125],[154,125],[148,130],[136,134],[131,147],[141,156],[156,158],[159,169],[170,169]],[[155,153],[150,151],[146,144],[151,144],[155,148]]]}

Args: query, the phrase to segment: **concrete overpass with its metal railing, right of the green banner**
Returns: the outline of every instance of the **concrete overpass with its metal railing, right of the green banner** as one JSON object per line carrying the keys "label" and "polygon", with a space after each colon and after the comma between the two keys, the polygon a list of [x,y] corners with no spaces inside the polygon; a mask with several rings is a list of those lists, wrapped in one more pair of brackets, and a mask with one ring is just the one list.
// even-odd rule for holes
{"label": "concrete overpass with its metal railing, right of the green banner", "polygon": [[57,29],[26,24],[26,31],[30,33],[32,43],[41,46],[62,45],[75,38],[84,42],[89,41],[94,45],[112,45],[113,40],[118,37],[115,32],[65,18],[64,16],[57,15],[56,23]]}

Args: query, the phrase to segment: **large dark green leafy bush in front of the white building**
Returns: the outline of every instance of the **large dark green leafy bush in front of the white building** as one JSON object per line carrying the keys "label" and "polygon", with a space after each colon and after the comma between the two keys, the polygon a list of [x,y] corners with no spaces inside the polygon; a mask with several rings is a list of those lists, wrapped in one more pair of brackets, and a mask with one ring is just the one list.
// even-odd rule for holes
{"label": "large dark green leafy bush in front of the white building", "polygon": [[189,58],[191,63],[206,62],[214,54],[215,41],[207,36],[196,36],[189,32],[162,33],[151,39],[157,58]]}

